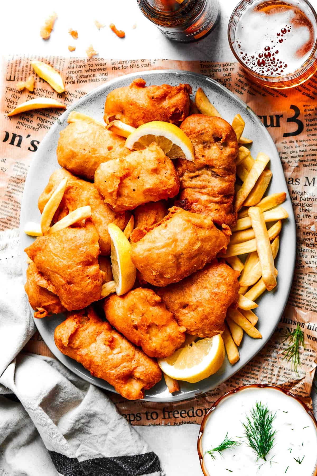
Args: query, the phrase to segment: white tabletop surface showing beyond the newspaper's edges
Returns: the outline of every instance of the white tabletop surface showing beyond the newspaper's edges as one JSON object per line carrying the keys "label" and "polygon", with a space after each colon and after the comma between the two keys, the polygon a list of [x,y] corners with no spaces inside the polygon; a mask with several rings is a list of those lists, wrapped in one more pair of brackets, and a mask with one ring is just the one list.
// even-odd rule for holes
{"label": "white tabletop surface showing beyond the newspaper's edges", "polygon": [[[310,0],[317,8],[317,0]],[[0,52],[28,55],[67,56],[68,45],[76,45],[76,55],[85,56],[89,44],[104,58],[168,58],[175,60],[231,61],[233,55],[227,40],[227,25],[237,0],[220,0],[221,16],[217,27],[198,43],[179,44],[166,40],[140,12],[136,0],[64,0],[48,2],[15,0],[1,2]],[[53,10],[58,13],[50,40],[39,37],[39,27]],[[94,20],[106,24],[100,31]],[[121,40],[107,27],[109,23],[125,30]],[[136,28],[133,29],[133,25]],[[73,40],[68,29],[78,30]],[[315,395],[315,403],[316,401]],[[135,426],[150,448],[160,457],[166,476],[201,476],[197,456],[198,425]]]}

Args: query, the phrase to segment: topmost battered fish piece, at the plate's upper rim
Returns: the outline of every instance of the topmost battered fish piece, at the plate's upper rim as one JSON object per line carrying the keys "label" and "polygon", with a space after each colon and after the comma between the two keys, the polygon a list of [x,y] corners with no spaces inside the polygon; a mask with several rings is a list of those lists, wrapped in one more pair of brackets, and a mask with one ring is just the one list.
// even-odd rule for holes
{"label": "topmost battered fish piece, at the plate's upper rim", "polygon": [[179,125],[189,114],[189,84],[146,86],[144,79],[134,79],[130,86],[111,91],[105,103],[107,124],[119,119],[139,127],[145,122],[163,120]]}

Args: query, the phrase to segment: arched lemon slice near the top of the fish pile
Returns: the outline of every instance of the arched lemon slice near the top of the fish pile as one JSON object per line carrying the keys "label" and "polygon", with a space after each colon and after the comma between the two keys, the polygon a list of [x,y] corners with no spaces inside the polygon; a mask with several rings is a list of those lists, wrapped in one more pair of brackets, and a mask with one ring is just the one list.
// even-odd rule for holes
{"label": "arched lemon slice near the top of the fish pile", "polygon": [[195,160],[194,146],[183,130],[159,120],[138,127],[127,137],[125,147],[139,150],[152,142],[156,142],[170,159],[187,159],[192,162]]}

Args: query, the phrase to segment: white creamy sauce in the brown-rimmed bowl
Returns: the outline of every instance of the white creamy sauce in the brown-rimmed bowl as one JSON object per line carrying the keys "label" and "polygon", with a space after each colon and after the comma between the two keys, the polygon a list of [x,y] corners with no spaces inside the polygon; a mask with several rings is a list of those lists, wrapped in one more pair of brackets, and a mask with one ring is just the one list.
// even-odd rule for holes
{"label": "white creamy sauce in the brown-rimmed bowl", "polygon": [[[257,461],[241,422],[256,402],[276,412],[273,429],[276,430],[274,446],[267,455],[267,462]],[[274,388],[247,388],[224,398],[208,418],[202,435],[202,453],[220,445],[228,437],[241,442],[240,446],[225,449],[222,456],[215,452],[203,456],[204,466],[210,476],[312,476],[317,466],[317,430],[307,411],[295,398],[288,397]],[[304,459],[302,459],[304,457]],[[295,459],[301,460],[299,464]],[[272,460],[270,463],[269,460]],[[264,463],[260,468],[259,466]],[[258,469],[259,468],[259,469]],[[232,471],[232,473],[231,473]]]}

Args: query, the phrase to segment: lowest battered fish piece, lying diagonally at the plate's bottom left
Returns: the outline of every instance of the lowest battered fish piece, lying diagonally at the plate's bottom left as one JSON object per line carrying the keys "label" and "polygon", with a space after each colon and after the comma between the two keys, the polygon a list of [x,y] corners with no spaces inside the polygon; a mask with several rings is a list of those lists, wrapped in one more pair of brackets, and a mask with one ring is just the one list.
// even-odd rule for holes
{"label": "lowest battered fish piece, lying diagonally at the plate's bottom left", "polygon": [[54,339],[63,354],[129,400],[143,398],[144,390],[162,378],[157,363],[103,322],[92,307],[70,313],[56,327]]}

